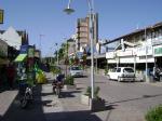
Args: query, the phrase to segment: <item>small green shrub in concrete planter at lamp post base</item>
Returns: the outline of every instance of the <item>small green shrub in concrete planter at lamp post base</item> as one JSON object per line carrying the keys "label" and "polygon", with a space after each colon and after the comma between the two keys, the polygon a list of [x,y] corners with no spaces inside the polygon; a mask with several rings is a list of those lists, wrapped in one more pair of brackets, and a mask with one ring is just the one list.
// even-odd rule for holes
{"label": "small green shrub in concrete planter at lamp post base", "polygon": [[[94,88],[94,98],[99,98],[98,93],[99,93],[99,86]],[[85,95],[91,97],[91,86],[87,86]]]}

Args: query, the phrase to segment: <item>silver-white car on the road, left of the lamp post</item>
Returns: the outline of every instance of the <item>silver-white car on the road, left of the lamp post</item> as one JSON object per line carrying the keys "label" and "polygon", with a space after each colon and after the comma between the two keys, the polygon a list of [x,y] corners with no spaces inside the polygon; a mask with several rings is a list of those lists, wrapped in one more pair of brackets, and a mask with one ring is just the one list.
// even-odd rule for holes
{"label": "silver-white car on the road, left of the lamp post", "polygon": [[83,70],[79,66],[71,66],[69,70],[72,77],[83,77]]}

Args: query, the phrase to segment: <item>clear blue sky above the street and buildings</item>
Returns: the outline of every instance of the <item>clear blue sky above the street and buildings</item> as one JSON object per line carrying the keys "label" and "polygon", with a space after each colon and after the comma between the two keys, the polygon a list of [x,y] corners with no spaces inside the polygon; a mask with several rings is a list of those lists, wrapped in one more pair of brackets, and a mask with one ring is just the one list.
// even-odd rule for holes
{"label": "clear blue sky above the street and buildings", "polygon": [[[76,32],[77,18],[85,17],[86,0],[72,0],[76,12],[67,15],[63,10],[68,0],[0,0],[4,10],[4,24],[0,29],[13,26],[29,33],[30,44],[40,45],[43,55],[52,54],[54,43],[63,43]],[[94,0],[99,14],[99,39],[114,39],[136,29],[162,22],[162,0]]]}

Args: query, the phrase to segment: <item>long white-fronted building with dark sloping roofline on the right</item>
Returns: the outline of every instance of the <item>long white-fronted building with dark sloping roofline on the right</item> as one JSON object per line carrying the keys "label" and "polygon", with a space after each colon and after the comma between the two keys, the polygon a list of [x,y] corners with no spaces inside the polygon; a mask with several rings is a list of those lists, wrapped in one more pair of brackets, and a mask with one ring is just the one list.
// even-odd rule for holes
{"label": "long white-fronted building with dark sloping roofline on the right", "polygon": [[106,53],[109,67],[133,66],[135,70],[162,68],[162,23],[137,29],[107,42],[116,49]]}

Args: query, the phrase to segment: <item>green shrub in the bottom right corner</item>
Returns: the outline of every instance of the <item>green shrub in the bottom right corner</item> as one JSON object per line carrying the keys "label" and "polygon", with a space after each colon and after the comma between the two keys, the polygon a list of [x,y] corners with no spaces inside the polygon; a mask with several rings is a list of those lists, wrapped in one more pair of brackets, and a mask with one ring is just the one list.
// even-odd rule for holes
{"label": "green shrub in the bottom right corner", "polygon": [[146,121],[162,121],[162,105],[151,108],[145,116]]}

